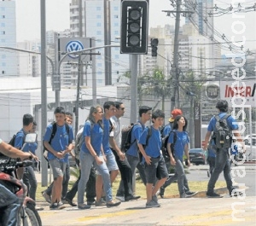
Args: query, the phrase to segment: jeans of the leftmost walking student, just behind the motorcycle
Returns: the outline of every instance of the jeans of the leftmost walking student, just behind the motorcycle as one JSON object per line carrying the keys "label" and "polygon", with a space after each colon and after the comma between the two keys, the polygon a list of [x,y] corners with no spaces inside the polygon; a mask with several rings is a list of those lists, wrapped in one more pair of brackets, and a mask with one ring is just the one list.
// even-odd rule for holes
{"label": "jeans of the leftmost walking student, just behind the motorcycle", "polygon": [[25,168],[22,180],[23,180],[23,183],[26,184],[27,195],[30,198],[32,198],[32,200],[36,200],[38,182],[32,166],[27,166]]}

